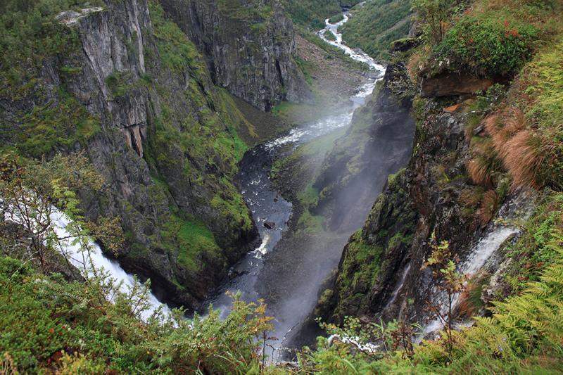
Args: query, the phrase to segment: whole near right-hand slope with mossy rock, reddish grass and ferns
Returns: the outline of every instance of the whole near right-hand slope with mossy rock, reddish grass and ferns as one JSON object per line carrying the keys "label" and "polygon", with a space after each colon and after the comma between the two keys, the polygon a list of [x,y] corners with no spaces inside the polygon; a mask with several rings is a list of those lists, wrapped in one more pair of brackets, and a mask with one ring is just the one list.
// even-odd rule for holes
{"label": "whole near right-hand slope with mossy rock, reddish grass and ferns", "polygon": [[[554,144],[562,123],[557,98],[563,80],[556,68],[561,58],[555,58],[563,31],[561,4],[475,1],[467,6],[448,10],[445,17],[456,22],[438,35],[432,35],[439,28],[426,18],[426,44],[407,53],[411,77],[422,81],[426,96],[415,98],[413,108],[415,151],[407,169],[389,177],[365,226],[348,241],[334,288],[320,301],[321,312],[322,307],[332,312],[327,317],[347,322],[343,331],[330,326],[329,331],[372,340],[383,335],[387,345],[401,350],[371,362],[366,350],[354,356],[322,349],[314,356],[329,368],[342,360],[358,371],[391,373],[561,369],[560,359],[543,360],[562,350],[556,337],[563,325],[559,318],[550,323],[563,306],[562,205],[552,190],[560,189],[562,159]],[[410,322],[421,322],[428,312],[432,276],[421,266],[434,238],[449,241],[454,259],[463,258],[505,200],[526,191],[538,196],[533,189],[542,192],[533,215],[512,223],[523,234],[498,243],[495,258],[472,275],[455,312],[489,317],[452,338],[443,333],[414,351],[405,346]],[[380,317],[400,322],[391,322],[385,332],[377,325]]]}

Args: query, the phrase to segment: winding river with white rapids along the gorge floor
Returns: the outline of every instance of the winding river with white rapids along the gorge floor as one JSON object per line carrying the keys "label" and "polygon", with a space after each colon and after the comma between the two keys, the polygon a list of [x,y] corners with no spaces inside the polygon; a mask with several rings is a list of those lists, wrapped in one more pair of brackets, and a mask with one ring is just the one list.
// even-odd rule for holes
{"label": "winding river with white rapids along the gorge floor", "polygon": [[[357,93],[350,97],[352,106],[345,107],[342,113],[330,115],[314,122],[294,127],[287,134],[268,141],[248,151],[240,163],[239,180],[241,192],[250,208],[253,220],[258,227],[261,243],[258,248],[248,253],[232,270],[232,279],[225,284],[207,305],[213,305],[225,316],[229,312],[231,298],[227,292],[239,291],[246,301],[262,298],[269,305],[269,313],[276,318],[272,341],[274,348],[288,345],[290,334],[298,331],[300,325],[310,315],[317,302],[317,293],[322,281],[329,277],[338,265],[343,246],[351,230],[322,233],[319,238],[309,239],[308,243],[295,241],[288,231],[288,221],[292,215],[292,205],[280,193],[274,190],[268,177],[273,160],[280,153],[288,153],[288,148],[295,150],[320,136],[349,127],[354,110],[365,105],[366,98],[372,94],[375,84],[384,75],[385,68],[359,50],[352,50],[342,42],[337,32],[339,25],[346,23],[348,15],[343,13],[343,20],[327,26],[317,34],[327,43],[343,50],[346,55],[369,66],[369,74],[358,87]],[[324,37],[325,32],[334,34],[335,40]],[[367,215],[358,215],[358,229]],[[265,226],[267,224],[270,228]],[[272,225],[273,224],[273,225]],[[312,244],[311,244],[312,242]],[[307,336],[314,336],[316,332]],[[305,333],[303,333],[305,334]],[[310,341],[311,337],[304,342]],[[303,338],[298,340],[301,342]],[[295,337],[293,337],[293,341]],[[274,357],[279,353],[274,352]]]}

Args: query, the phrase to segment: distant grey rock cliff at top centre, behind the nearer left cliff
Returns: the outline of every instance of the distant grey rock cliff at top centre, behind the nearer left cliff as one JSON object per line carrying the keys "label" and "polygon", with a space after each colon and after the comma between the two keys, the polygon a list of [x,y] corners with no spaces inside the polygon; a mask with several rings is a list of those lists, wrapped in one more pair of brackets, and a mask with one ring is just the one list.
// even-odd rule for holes
{"label": "distant grey rock cliff at top centre, behind the nearer left cliff", "polygon": [[296,68],[291,20],[277,0],[163,0],[203,51],[216,84],[262,110],[309,93]]}

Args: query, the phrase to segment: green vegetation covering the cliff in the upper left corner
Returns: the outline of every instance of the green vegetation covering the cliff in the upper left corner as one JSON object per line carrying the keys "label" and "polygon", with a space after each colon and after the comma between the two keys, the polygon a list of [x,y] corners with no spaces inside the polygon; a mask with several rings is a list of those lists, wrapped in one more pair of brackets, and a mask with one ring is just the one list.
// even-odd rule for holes
{"label": "green vegetation covering the cliff in the upper left corner", "polygon": [[[96,6],[101,1],[89,4]],[[20,103],[9,118],[3,116],[0,131],[6,143],[15,144],[25,155],[40,157],[56,149],[72,149],[99,131],[99,119],[65,87],[67,80],[80,73],[79,67],[55,66],[62,82],[54,92],[38,79],[47,58],[68,57],[79,51],[77,33],[54,16],[69,9],[80,11],[83,5],[72,0],[56,4],[7,0],[0,4],[0,98]],[[32,95],[36,99],[34,106],[29,106],[26,99]]]}

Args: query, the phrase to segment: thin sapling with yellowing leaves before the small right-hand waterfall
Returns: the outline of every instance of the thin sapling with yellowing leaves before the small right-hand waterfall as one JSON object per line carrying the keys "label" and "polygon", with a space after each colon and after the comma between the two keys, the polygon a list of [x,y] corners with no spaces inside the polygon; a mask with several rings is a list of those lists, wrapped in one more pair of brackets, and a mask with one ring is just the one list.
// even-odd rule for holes
{"label": "thin sapling with yellowing leaves before the small right-hand waterfall", "polygon": [[422,269],[431,267],[439,294],[443,295],[444,298],[438,296],[436,300],[429,300],[429,310],[432,317],[438,319],[444,327],[445,346],[448,355],[451,355],[454,344],[453,313],[455,301],[465,289],[467,275],[457,271],[457,263],[460,260],[457,256],[452,255],[448,241],[441,241],[438,244],[436,234],[432,233],[430,244],[432,253],[430,258],[422,265]]}

